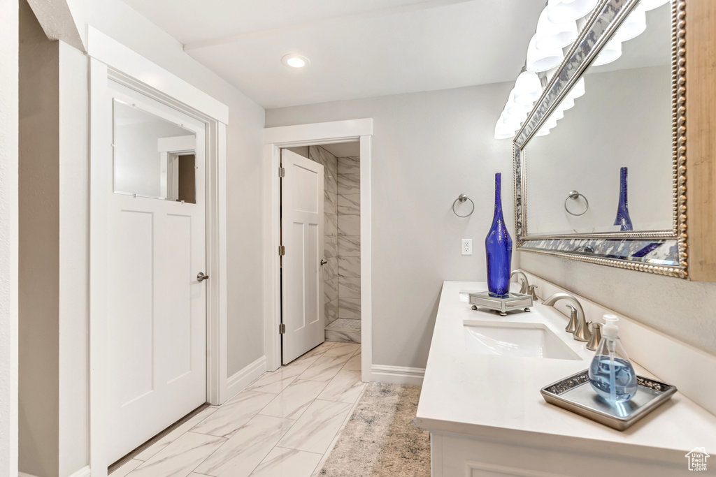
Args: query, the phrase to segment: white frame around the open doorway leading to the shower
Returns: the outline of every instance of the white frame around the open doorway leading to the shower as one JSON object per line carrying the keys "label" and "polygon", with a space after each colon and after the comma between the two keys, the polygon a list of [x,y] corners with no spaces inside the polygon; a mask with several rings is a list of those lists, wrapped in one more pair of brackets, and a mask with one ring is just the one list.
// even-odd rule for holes
{"label": "white frame around the open doorway leading to the shower", "polygon": [[261,203],[263,205],[263,341],[266,370],[281,367],[281,182],[279,164],[281,147],[316,146],[360,141],[360,237],[361,237],[361,375],[368,382],[373,364],[372,354],[372,275],[371,275],[371,196],[370,141],[373,119],[299,124],[263,129],[263,164],[261,167]]}

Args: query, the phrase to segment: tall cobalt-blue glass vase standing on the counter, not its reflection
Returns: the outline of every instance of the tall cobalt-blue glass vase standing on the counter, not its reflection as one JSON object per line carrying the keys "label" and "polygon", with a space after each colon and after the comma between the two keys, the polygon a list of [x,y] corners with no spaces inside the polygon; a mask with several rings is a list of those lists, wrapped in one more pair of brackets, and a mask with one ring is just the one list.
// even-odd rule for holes
{"label": "tall cobalt-blue glass vase standing on the counter, not its reflection", "polygon": [[488,259],[488,291],[493,297],[505,297],[510,292],[512,239],[502,215],[502,185],[500,173],[495,174],[495,216],[485,238]]}

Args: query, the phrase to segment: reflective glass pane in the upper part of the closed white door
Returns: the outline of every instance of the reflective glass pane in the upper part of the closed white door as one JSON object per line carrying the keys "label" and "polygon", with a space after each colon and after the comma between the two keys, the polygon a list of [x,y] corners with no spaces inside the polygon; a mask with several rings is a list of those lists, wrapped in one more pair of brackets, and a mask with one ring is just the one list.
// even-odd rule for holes
{"label": "reflective glass pane in the upper part of the closed white door", "polygon": [[114,192],[196,203],[196,134],[114,99]]}

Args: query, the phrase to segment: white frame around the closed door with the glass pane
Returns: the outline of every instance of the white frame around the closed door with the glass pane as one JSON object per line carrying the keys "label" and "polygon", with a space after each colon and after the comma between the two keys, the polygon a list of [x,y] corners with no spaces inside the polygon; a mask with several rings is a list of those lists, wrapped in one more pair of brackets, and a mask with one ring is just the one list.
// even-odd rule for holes
{"label": "white frame around the closed door with the glass pane", "polygon": [[89,465],[106,477],[107,243],[106,186],[98,161],[112,160],[107,81],[124,84],[206,125],[206,390],[211,404],[228,397],[226,375],[226,124],[228,107],[89,26]]}

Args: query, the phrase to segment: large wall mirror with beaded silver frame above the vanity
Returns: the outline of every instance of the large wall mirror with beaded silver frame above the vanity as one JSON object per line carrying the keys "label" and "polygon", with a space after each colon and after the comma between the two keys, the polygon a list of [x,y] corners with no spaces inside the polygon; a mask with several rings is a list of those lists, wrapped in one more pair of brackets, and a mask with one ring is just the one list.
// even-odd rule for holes
{"label": "large wall mirror with beaded silver frame above the vanity", "polygon": [[515,139],[518,250],[685,276],[675,8],[605,0],[587,20]]}

